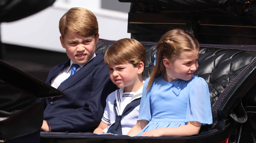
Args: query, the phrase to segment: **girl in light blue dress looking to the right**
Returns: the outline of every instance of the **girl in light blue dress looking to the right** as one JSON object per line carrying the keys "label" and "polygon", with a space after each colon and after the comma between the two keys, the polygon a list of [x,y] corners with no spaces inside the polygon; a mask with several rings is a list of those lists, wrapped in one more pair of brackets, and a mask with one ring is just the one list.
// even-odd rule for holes
{"label": "girl in light blue dress looking to the right", "polygon": [[208,85],[194,75],[199,43],[188,32],[173,29],[157,46],[155,68],[142,91],[139,118],[127,135],[188,136],[212,123]]}

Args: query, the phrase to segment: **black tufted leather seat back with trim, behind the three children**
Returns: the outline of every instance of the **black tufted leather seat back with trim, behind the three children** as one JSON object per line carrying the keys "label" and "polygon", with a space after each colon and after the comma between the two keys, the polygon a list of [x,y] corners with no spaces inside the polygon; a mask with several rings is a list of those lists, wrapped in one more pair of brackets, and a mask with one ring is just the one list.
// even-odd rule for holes
{"label": "black tufted leather seat back with trim, behind the three children", "polygon": [[[107,48],[114,42],[115,41],[110,40],[99,40],[96,46],[96,53],[105,53]],[[143,72],[143,80],[145,80],[149,77],[150,71],[154,67],[153,62],[154,54],[156,53],[156,43],[141,42],[141,44],[145,47],[147,52],[147,61],[145,71]],[[229,93],[229,91],[236,90],[237,87],[243,86],[240,85],[242,81],[239,81],[239,79],[248,76],[252,70],[255,71],[256,46],[201,44],[198,64],[199,68],[195,72],[195,75],[204,78],[209,86],[213,114],[213,124],[211,128],[214,128],[218,122],[217,112],[221,104],[223,104],[224,98],[233,95]],[[256,81],[253,82],[255,83]],[[232,87],[236,87],[236,89],[231,89]]]}

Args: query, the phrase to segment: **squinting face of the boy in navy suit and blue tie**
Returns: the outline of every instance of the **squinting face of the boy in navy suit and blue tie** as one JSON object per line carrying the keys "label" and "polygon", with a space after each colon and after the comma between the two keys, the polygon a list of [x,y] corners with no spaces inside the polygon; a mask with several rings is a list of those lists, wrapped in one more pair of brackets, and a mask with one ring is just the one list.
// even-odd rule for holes
{"label": "squinting face of the boy in navy suit and blue tie", "polygon": [[67,30],[65,38],[60,36],[60,42],[62,47],[66,49],[68,57],[75,64],[85,64],[93,57],[98,38],[99,34],[96,37],[94,35],[84,37]]}

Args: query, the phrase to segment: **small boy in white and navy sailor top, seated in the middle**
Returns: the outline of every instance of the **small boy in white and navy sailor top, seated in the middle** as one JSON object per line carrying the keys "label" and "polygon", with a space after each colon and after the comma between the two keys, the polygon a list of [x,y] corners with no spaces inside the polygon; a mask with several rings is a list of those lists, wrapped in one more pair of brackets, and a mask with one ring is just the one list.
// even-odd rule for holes
{"label": "small boy in white and navy sailor top, seated in the middle", "polygon": [[139,116],[146,50],[137,40],[117,40],[106,51],[104,62],[111,81],[120,89],[108,95],[103,117],[94,133],[127,135]]}

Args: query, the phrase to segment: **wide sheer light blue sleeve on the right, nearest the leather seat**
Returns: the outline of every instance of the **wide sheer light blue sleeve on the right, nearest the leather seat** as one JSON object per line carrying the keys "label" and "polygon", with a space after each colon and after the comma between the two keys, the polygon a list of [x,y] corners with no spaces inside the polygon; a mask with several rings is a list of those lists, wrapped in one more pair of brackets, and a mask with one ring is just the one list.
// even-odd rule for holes
{"label": "wide sheer light blue sleeve on the right, nearest the leather seat", "polygon": [[188,84],[189,98],[187,102],[187,113],[185,122],[198,121],[205,124],[212,124],[212,112],[209,88],[201,77],[194,77]]}

